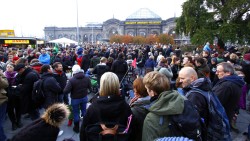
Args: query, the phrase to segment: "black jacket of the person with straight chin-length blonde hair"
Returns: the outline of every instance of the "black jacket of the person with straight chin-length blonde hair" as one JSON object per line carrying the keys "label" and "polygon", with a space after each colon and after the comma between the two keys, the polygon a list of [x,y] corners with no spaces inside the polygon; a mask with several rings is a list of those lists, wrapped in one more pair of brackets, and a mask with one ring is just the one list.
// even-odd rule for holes
{"label": "black jacket of the person with straight chin-length blonde hair", "polygon": [[122,125],[127,125],[128,117],[132,114],[129,105],[122,96],[97,97],[93,104],[89,106],[82,122],[80,141],[86,141],[85,128],[88,125],[100,122],[97,116],[98,111],[100,111],[99,114],[103,122],[116,122],[120,118],[120,124]]}

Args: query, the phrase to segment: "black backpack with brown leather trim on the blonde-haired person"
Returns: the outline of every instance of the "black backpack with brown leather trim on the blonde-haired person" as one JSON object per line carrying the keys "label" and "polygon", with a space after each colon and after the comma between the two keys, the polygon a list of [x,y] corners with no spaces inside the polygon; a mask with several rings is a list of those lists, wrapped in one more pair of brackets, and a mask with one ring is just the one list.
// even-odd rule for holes
{"label": "black backpack with brown leather trim on the blonde-haired person", "polygon": [[125,114],[125,110],[119,116],[118,120],[114,122],[104,123],[102,122],[100,109],[98,107],[94,107],[97,109],[96,112],[99,121],[98,123],[88,125],[85,128],[87,141],[129,141],[130,136],[130,122],[132,119],[132,115],[128,117],[128,125],[119,124],[120,119]]}

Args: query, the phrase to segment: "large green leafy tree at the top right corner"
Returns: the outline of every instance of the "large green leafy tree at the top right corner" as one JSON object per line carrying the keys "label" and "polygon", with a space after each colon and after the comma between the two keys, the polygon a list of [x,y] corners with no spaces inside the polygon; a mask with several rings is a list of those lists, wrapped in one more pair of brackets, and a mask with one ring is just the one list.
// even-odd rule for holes
{"label": "large green leafy tree at the top right corner", "polygon": [[187,0],[182,10],[176,32],[189,35],[193,44],[212,43],[215,37],[238,43],[250,39],[249,0]]}

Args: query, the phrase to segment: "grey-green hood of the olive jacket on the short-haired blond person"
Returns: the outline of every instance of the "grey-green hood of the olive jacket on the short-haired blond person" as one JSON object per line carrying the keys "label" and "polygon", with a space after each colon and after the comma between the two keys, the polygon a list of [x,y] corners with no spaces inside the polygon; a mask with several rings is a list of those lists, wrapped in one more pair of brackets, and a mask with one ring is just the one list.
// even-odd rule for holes
{"label": "grey-green hood of the olive jacket on the short-haired blond person", "polygon": [[157,115],[181,114],[184,110],[185,99],[177,91],[165,91],[159,95],[149,111]]}

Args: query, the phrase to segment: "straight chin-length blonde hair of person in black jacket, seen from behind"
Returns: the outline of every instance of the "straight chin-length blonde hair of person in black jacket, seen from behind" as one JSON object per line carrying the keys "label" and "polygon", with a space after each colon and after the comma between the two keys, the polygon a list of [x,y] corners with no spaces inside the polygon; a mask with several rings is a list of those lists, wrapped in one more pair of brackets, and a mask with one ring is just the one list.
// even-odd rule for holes
{"label": "straight chin-length blonde hair of person in black jacket, seen from behind", "polygon": [[116,74],[106,72],[100,80],[100,96],[119,95],[120,83]]}

